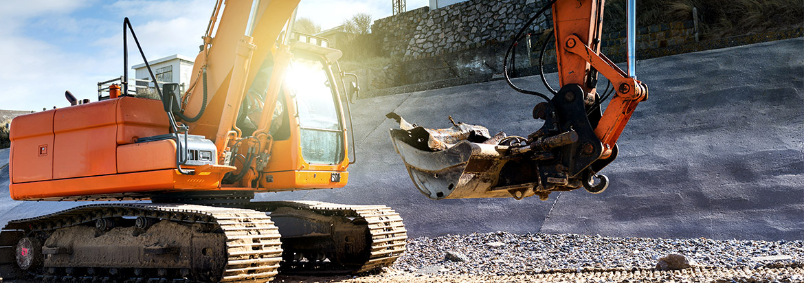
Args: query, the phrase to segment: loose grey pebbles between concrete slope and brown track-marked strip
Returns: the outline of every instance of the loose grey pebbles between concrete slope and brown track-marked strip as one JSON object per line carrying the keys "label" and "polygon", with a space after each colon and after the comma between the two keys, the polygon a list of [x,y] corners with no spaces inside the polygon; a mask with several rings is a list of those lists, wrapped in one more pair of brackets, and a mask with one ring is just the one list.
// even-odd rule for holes
{"label": "loose grey pebbles between concrete slope and brown track-marked strip", "polygon": [[425,274],[516,275],[548,271],[654,269],[680,254],[693,266],[727,269],[804,265],[802,240],[611,238],[507,232],[408,240],[392,269]]}

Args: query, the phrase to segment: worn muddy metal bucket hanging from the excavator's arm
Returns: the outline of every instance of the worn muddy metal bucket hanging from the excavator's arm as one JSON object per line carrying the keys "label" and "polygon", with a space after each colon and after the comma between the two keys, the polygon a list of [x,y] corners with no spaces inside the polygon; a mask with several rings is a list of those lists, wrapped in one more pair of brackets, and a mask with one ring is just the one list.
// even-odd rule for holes
{"label": "worn muddy metal bucket hanging from the excavator's arm", "polygon": [[498,186],[506,183],[499,180],[509,162],[506,144],[521,142],[522,137],[507,137],[505,133],[492,137],[485,127],[454,121],[448,129],[427,129],[408,123],[396,113],[386,117],[400,123],[400,129],[391,129],[394,147],[416,188],[430,199],[522,199],[534,195],[538,177],[514,186]]}

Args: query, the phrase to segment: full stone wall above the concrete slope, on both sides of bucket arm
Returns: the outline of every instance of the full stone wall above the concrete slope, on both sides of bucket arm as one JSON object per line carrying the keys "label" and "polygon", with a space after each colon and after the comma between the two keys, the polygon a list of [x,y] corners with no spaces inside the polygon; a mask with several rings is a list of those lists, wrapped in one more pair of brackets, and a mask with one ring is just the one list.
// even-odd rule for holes
{"label": "full stone wall above the concrete slope, on both sides of bucket arm", "polygon": [[[503,71],[503,56],[515,35],[547,0],[469,0],[440,9],[428,7],[380,18],[371,27],[381,54],[391,59],[385,68],[360,70],[365,90],[442,80],[489,80]],[[539,39],[552,28],[552,14],[537,18],[519,43],[512,76],[534,74]],[[693,23],[662,23],[640,27],[640,51],[682,46],[695,41]],[[527,43],[527,40],[531,43]],[[626,32],[601,36],[601,51],[615,62],[625,61]],[[527,49],[527,47],[531,47]],[[548,45],[545,70],[555,72],[555,46]]]}

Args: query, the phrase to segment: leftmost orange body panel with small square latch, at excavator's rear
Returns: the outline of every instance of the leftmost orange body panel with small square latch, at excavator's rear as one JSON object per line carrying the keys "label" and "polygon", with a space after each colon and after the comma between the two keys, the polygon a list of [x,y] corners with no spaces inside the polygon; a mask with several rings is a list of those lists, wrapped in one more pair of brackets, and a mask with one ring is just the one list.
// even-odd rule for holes
{"label": "leftmost orange body panel with small square latch, at excavator's rear", "polygon": [[10,134],[11,182],[23,183],[53,178],[54,114],[55,110],[48,110],[14,118]]}

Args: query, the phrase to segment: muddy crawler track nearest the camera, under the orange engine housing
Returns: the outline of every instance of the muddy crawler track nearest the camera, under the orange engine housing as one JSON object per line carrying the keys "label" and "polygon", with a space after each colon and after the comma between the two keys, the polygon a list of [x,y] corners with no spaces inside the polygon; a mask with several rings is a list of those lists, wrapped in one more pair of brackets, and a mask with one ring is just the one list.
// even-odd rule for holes
{"label": "muddy crawler track nearest the camera, under the orange engine housing", "polygon": [[[111,244],[108,250],[105,250],[105,247],[80,247],[81,241],[92,243],[92,239],[62,241],[76,244],[77,247],[48,246],[59,243],[59,239],[51,238],[54,235],[58,236],[59,230],[82,231],[91,228],[90,224],[93,222],[105,221],[104,219],[113,219],[121,224],[125,223],[127,218],[136,217],[159,221],[150,228],[156,228],[158,225],[167,228],[191,225],[193,228],[203,228],[207,232],[178,235],[177,239],[173,239],[177,241],[190,236],[193,243],[190,246],[163,244],[132,249],[129,244],[117,247],[117,244],[136,242],[137,236],[124,237],[119,243]],[[92,229],[97,231],[97,228]],[[132,227],[117,227],[107,233],[115,229],[117,232],[124,232],[121,234],[124,236],[128,230],[136,230]],[[177,231],[179,232],[182,231]],[[140,235],[146,234],[147,231],[142,231]],[[38,239],[45,243],[42,251],[45,253],[44,258],[34,260],[40,262],[41,266],[38,268],[28,270],[19,268],[20,255],[16,246],[23,238]],[[14,220],[0,232],[0,244],[3,246],[0,248],[0,272],[5,279],[38,279],[53,282],[265,282],[277,274],[282,253],[277,227],[265,213],[248,209],[187,204],[97,204],[31,219]],[[92,251],[100,251],[102,254],[82,254]],[[133,261],[139,262],[132,264],[123,260],[115,263],[107,258],[120,257],[114,256],[115,252],[128,253],[129,256],[135,257]],[[64,260],[59,260],[59,257]],[[100,259],[97,260],[106,258],[109,262],[86,260],[98,257]],[[143,257],[148,257],[150,260],[142,260]]]}

